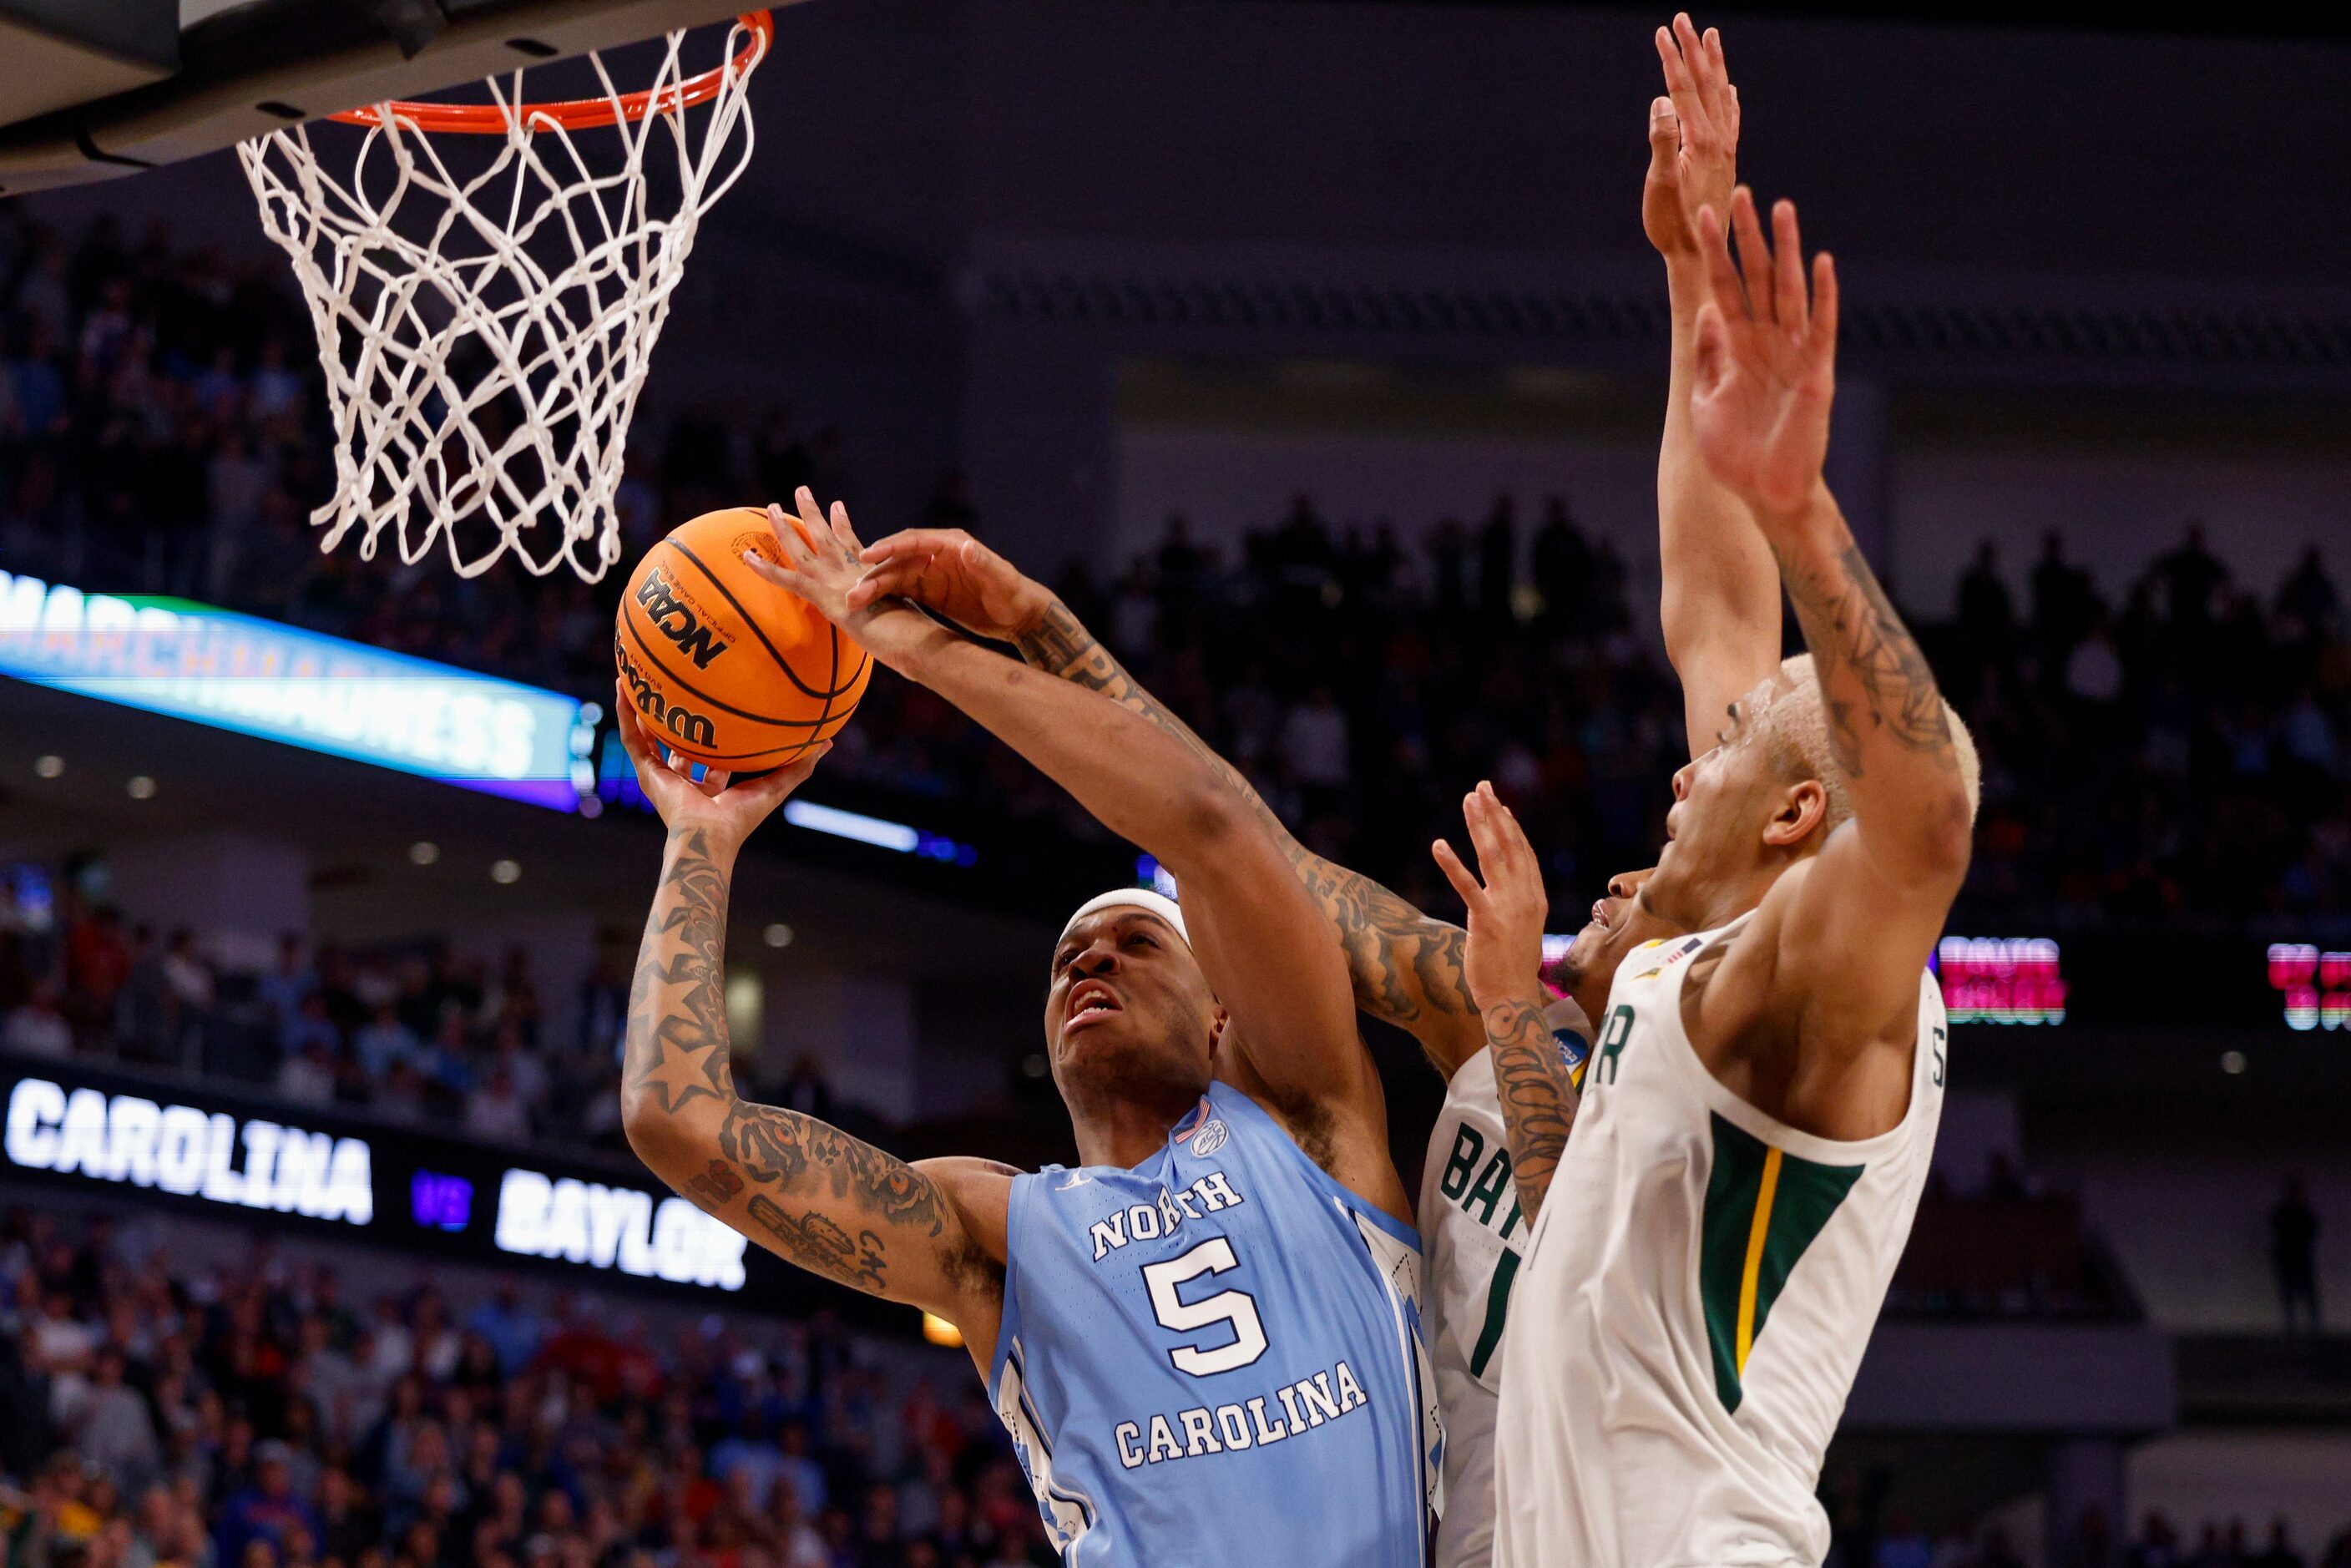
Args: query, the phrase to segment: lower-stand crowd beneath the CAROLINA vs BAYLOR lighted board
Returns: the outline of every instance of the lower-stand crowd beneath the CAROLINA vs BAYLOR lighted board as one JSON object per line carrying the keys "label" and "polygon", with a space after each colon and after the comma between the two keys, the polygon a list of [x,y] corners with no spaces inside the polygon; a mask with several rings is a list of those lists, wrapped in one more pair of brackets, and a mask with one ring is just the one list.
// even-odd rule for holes
{"label": "lower-stand crowd beneath the CAROLINA vs BAYLOR lighted board", "polygon": [[[7,1568],[1030,1568],[959,1356],[0,1222]],[[931,1375],[940,1382],[931,1382]]]}

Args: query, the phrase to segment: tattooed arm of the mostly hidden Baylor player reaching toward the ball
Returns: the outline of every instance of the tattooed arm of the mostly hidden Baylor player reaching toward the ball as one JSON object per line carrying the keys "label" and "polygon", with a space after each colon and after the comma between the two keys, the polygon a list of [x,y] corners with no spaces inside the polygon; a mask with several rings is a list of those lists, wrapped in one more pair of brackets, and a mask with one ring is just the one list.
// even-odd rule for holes
{"label": "tattooed arm of the mostly hidden Baylor player reaching toward the ball", "polygon": [[863,559],[868,574],[853,592],[858,609],[889,595],[915,599],[983,637],[1013,644],[1037,670],[1100,691],[1183,741],[1248,802],[1291,875],[1338,933],[1354,1004],[1413,1034],[1446,1077],[1486,1046],[1462,978],[1462,929],[1422,914],[1371,877],[1300,844],[1241,771],[1145,691],[1051,590],[962,529],[891,534],[875,541]]}

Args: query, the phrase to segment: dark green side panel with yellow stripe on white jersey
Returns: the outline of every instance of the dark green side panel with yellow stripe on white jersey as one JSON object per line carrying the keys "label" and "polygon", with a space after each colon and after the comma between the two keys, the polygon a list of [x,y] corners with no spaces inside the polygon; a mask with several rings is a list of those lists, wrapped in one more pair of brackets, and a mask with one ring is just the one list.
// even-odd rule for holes
{"label": "dark green side panel with yellow stripe on white jersey", "polygon": [[1714,1347],[1714,1392],[1737,1410],[1747,1356],[1796,1260],[1829,1225],[1864,1166],[1822,1166],[1714,1121],[1714,1171],[1697,1244],[1697,1293]]}

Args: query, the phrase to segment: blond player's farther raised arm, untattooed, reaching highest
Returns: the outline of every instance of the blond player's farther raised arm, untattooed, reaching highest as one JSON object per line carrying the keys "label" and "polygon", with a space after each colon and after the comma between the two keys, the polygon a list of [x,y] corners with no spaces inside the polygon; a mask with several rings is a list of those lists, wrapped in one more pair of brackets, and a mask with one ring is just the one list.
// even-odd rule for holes
{"label": "blond player's farther raised arm, untattooed, reaching highest", "polygon": [[1681,675],[1681,712],[1697,757],[1714,745],[1728,705],[1780,663],[1780,571],[1747,503],[1707,470],[1690,423],[1697,383],[1697,313],[1707,259],[1697,209],[1730,207],[1737,186],[1740,94],[1723,35],[1674,16],[1657,28],[1667,96],[1648,108],[1648,181],[1641,228],[1665,259],[1674,315],[1665,437],[1657,444],[1657,562],[1665,654]]}

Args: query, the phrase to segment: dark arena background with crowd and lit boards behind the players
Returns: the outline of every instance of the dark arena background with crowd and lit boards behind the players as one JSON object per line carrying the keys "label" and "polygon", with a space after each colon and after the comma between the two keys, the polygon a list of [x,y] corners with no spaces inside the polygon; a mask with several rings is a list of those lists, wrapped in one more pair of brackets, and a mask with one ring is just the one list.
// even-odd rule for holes
{"label": "dark arena background with crowd and lit boards behind the players", "polygon": [[[952,1331],[628,1150],[628,564],[797,484],[865,538],[966,527],[1448,919],[1427,844],[1491,778],[1575,931],[1683,762],[1667,14],[778,9],[590,585],[317,548],[287,259],[228,141],[73,118],[179,59],[146,5],[75,9],[0,0],[7,1566],[1056,1561]],[[190,0],[188,61],[235,12]],[[1838,256],[1829,480],[1984,759],[1829,1561],[2351,1568],[2351,54],[2245,7],[1697,21],[1740,176]],[[96,165],[19,179],[35,143]],[[134,623],[214,675],[110,663]],[[489,741],[235,682],[301,654]],[[1039,976],[1150,875],[877,672],[745,853],[736,1074],[905,1157],[1070,1161]],[[1418,1190],[1441,1086],[1366,1027]]]}

